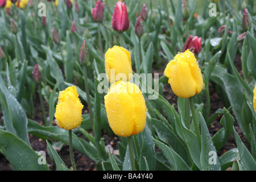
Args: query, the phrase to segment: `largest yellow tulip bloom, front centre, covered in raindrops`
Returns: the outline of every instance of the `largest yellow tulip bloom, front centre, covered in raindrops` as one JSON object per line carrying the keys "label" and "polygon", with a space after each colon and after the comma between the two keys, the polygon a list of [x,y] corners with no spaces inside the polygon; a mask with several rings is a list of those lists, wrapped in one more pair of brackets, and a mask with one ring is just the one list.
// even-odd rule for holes
{"label": "largest yellow tulip bloom, front centre, covered in raindrops", "polygon": [[109,125],[116,135],[130,137],[144,130],[147,107],[137,85],[117,81],[110,87],[104,100]]}

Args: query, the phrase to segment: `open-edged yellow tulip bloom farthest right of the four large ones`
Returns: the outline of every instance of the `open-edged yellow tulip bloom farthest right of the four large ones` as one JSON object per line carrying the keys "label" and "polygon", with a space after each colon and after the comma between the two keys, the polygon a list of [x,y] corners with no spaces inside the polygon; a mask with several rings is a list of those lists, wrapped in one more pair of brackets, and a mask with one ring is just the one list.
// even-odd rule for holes
{"label": "open-edged yellow tulip bloom farthest right of the four large ones", "polygon": [[181,98],[189,98],[199,94],[204,82],[201,69],[195,55],[187,50],[178,53],[164,70],[171,84],[172,91]]}

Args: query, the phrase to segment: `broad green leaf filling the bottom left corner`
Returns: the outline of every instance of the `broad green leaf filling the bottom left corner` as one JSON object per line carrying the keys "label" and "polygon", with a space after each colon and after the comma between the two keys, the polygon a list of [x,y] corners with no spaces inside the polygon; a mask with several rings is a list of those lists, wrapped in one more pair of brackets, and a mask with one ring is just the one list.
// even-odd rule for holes
{"label": "broad green leaf filling the bottom left corner", "polygon": [[47,163],[39,164],[40,155],[36,154],[23,140],[1,129],[0,138],[0,151],[10,162],[14,171],[48,171]]}

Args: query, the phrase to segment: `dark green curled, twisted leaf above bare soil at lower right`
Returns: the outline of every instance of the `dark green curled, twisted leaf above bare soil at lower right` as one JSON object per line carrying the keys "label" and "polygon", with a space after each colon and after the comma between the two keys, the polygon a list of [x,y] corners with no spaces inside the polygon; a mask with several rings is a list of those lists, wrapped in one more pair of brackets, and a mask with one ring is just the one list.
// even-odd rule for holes
{"label": "dark green curled, twisted leaf above bare soil at lower right", "polygon": [[213,135],[213,143],[216,150],[219,151],[224,144],[228,141],[230,134],[232,133],[232,126],[234,124],[234,118],[229,111],[224,107],[224,116],[221,118],[220,124],[223,126],[222,129],[218,130]]}

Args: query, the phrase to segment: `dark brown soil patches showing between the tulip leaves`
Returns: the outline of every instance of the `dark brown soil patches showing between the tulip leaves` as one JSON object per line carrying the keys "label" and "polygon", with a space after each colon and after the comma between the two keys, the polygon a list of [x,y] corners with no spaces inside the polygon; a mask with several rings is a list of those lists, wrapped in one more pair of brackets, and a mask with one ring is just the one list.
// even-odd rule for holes
{"label": "dark brown soil patches showing between the tulip leaves", "polygon": [[[235,61],[235,65],[236,65],[238,71],[241,73],[240,75],[242,76],[241,60],[240,60],[239,56],[237,57],[237,59]],[[210,85],[210,84],[209,84],[209,89],[210,89],[210,108],[211,108],[210,114],[212,114],[218,108],[223,108],[224,106],[222,104],[221,98],[218,96],[218,94],[216,92],[214,92],[212,85]],[[170,84],[164,85],[163,91],[164,91],[164,97],[166,97],[166,99],[171,104],[174,104],[174,106],[176,108],[177,96],[172,92]],[[36,98],[39,98],[39,97],[36,97]],[[33,119],[35,121],[38,121],[42,125],[43,117],[42,117],[42,112],[40,111],[40,102],[35,101],[34,106],[35,106],[36,115],[35,115],[35,118],[33,118]],[[48,107],[47,104],[45,104],[45,106],[46,106],[46,111],[47,111],[47,107]],[[87,112],[87,110],[85,109],[84,113],[86,113],[86,112]],[[2,117],[2,113],[0,111],[0,123],[2,123],[1,117]],[[218,117],[210,125],[209,133],[211,136],[213,136],[218,130],[220,130],[222,128],[222,126],[220,125],[221,117],[222,117],[221,115],[218,115]],[[240,135],[243,143],[245,143],[245,145],[247,147],[245,137],[242,134],[242,131],[236,121],[234,122],[234,127],[235,127],[238,135]],[[80,137],[83,137],[83,136],[81,135]],[[109,137],[105,131],[102,131],[102,137],[105,138],[105,143],[110,144],[110,146],[113,148],[113,150],[118,149],[118,146],[117,146],[118,137]],[[31,147],[35,151],[47,151],[47,148],[46,148],[47,144],[46,144],[45,140],[37,138],[32,134],[29,134],[29,138],[30,138],[30,142],[31,142]],[[233,134],[230,135],[229,140],[228,140],[228,142],[226,142],[225,146],[222,147],[222,149],[220,151],[218,151],[218,156],[221,156],[222,154],[224,154],[226,151],[230,150],[231,148],[236,148],[236,142],[234,140]],[[63,147],[61,147],[61,149],[57,152],[60,155],[60,158],[66,164],[66,166],[68,168],[71,168],[71,162],[70,162],[70,156],[69,156],[69,146],[67,144],[64,144]],[[79,171],[95,171],[96,170],[96,162],[94,162],[92,159],[88,158],[86,155],[81,154],[79,151],[77,151],[75,149],[73,150],[73,154],[74,154],[77,170],[79,170]],[[47,159],[49,170],[55,171],[56,168],[55,168],[54,164],[52,163],[52,160],[49,158],[47,152],[46,152],[46,159]],[[5,158],[5,156],[3,156],[0,153],[0,171],[11,171],[11,170],[12,169],[11,169],[9,161]]]}

